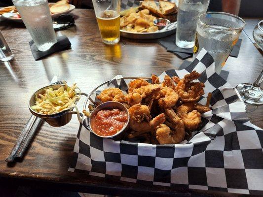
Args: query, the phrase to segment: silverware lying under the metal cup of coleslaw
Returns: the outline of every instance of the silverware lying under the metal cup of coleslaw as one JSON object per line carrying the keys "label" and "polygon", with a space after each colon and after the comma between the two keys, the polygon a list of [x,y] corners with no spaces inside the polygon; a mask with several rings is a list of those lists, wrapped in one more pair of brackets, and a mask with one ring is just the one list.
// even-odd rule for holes
{"label": "silverware lying under the metal cup of coleslaw", "polygon": [[[50,84],[54,84],[54,83],[61,83],[58,82],[58,77],[54,76],[53,79],[51,80]],[[63,83],[63,82],[62,82]],[[24,143],[24,141],[27,139],[27,136],[29,134],[29,132],[31,131],[32,127],[35,126],[35,122],[38,118],[34,115],[31,115],[30,119],[28,120],[26,126],[24,127],[24,129],[21,131],[20,135],[18,136],[13,148],[11,149],[9,155],[7,156],[7,158],[5,159],[6,162],[13,162],[18,151],[20,150],[22,144]],[[38,125],[40,124],[39,121],[36,122],[38,123]],[[35,128],[35,127],[34,127]],[[35,132],[34,132],[35,133]],[[34,135],[33,133],[33,135]],[[32,135],[32,136],[33,136]],[[32,138],[32,137],[31,137]],[[31,139],[30,139],[31,140]],[[30,141],[29,141],[30,142]],[[28,142],[28,143],[29,143]],[[27,145],[28,146],[28,145]],[[24,151],[23,151],[24,153]],[[22,153],[22,154],[23,154]],[[21,154],[21,156],[22,156]]]}

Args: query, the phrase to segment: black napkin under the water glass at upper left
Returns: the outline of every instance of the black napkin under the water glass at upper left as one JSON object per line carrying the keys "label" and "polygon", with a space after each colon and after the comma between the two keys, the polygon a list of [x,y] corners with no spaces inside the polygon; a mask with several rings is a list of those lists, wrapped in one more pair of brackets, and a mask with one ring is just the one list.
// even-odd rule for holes
{"label": "black napkin under the water glass at upper left", "polygon": [[62,51],[71,47],[71,42],[66,35],[57,37],[57,42],[46,51],[38,51],[38,48],[33,40],[29,42],[31,52],[35,60],[40,60],[41,58],[48,56],[57,51]]}

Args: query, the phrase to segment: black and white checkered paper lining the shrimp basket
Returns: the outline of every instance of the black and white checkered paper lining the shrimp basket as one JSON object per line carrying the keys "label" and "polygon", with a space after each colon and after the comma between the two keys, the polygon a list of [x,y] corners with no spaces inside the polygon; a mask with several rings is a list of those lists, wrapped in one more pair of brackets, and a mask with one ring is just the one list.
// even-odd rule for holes
{"label": "black and white checkered paper lining the shrimp basket", "polygon": [[[152,145],[100,138],[83,118],[69,171],[145,185],[263,195],[263,130],[249,122],[231,85],[214,71],[213,58],[202,49],[186,69],[159,77],[182,78],[192,70],[201,73],[198,80],[205,84],[200,103],[209,92],[213,96],[212,110],[202,114],[202,125],[189,141]],[[101,90],[125,91],[128,82],[117,76]]]}

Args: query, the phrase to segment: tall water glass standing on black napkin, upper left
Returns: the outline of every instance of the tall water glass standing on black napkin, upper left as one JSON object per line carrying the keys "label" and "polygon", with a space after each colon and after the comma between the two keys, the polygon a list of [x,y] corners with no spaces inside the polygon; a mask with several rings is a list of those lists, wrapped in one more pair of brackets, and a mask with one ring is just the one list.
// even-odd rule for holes
{"label": "tall water glass standing on black napkin, upper left", "polygon": [[12,0],[39,51],[57,42],[47,0]]}

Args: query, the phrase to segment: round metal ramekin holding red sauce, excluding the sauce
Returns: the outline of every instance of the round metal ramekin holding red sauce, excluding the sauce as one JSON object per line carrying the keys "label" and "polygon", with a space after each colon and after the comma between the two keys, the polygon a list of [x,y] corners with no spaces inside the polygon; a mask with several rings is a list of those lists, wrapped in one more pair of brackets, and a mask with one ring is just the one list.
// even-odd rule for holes
{"label": "round metal ramekin holding red sauce, excluding the sauce", "polygon": [[[91,119],[98,113],[98,111],[102,110],[102,109],[120,109],[125,111],[125,113],[127,114],[128,120],[125,123],[125,125],[123,126],[123,128],[118,131],[117,133],[115,133],[114,135],[110,135],[110,136],[101,136],[98,135],[96,132],[92,131],[92,127],[91,127]],[[102,104],[100,104],[99,106],[97,106],[90,114],[89,117],[89,127],[90,127],[90,131],[93,132],[95,135],[99,136],[99,137],[104,137],[104,138],[110,138],[110,137],[115,137],[116,135],[120,134],[122,131],[124,131],[127,126],[129,125],[129,120],[130,120],[130,115],[129,115],[129,111],[128,109],[120,102],[116,102],[116,101],[108,101],[108,102],[104,102]]]}

